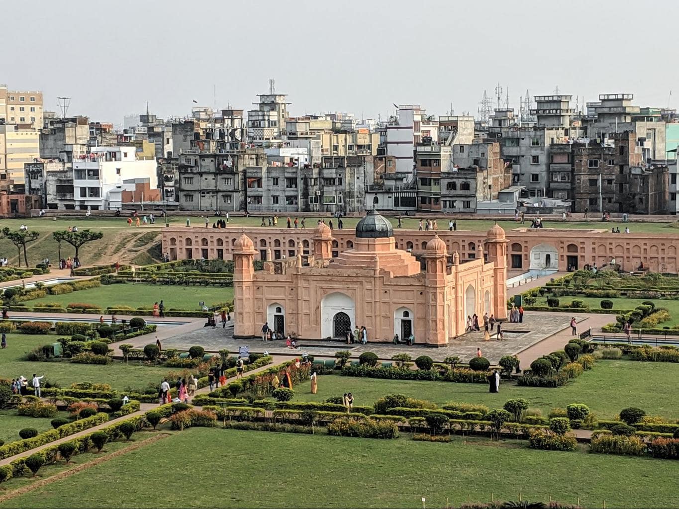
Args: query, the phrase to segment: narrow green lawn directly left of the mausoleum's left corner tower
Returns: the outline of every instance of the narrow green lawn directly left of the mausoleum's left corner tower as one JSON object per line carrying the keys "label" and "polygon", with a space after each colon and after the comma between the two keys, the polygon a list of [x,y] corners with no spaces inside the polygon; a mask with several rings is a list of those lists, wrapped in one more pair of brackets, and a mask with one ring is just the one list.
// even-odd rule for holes
{"label": "narrow green lawn directly left of the mausoleum's left corner tower", "polygon": [[106,308],[115,305],[153,306],[154,302],[163,299],[165,309],[200,310],[198,303],[201,301],[206,305],[212,305],[213,303],[231,301],[233,298],[234,288],[128,283],[102,285],[98,288],[80,290],[65,295],[48,295],[48,297],[25,301],[24,303],[26,305],[36,305],[43,302],[60,303],[66,307],[71,302],[84,302]]}

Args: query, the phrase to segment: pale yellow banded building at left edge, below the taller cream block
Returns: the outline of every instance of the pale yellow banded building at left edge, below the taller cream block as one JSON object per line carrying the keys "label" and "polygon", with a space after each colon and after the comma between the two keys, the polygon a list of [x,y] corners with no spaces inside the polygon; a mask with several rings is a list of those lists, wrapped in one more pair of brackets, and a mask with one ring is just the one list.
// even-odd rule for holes
{"label": "pale yellow banded building at left edge, below the taller cream block", "polygon": [[18,125],[0,125],[0,174],[24,183],[24,163],[40,157],[40,140],[35,128],[21,129]]}

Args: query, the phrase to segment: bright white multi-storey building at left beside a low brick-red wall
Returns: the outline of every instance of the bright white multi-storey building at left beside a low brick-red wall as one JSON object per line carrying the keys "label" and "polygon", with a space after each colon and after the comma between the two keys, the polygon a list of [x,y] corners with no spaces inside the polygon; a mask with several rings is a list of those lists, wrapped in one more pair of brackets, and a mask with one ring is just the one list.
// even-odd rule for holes
{"label": "bright white multi-storey building at left beside a low brick-red wall", "polygon": [[85,159],[73,161],[75,208],[115,210],[122,207],[122,191],[148,178],[158,188],[155,157],[137,158],[134,147],[92,147]]}

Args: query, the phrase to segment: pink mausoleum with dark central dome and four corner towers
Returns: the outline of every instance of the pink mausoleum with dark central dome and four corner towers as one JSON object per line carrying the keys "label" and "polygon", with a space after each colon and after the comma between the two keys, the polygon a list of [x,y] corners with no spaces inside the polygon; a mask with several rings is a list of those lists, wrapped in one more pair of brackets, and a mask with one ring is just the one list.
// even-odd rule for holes
{"label": "pink mausoleum with dark central dome and four corner towers", "polygon": [[421,264],[397,248],[391,223],[375,211],[356,225],[352,246],[335,256],[325,223],[313,230],[311,243],[313,254],[298,243],[294,255],[280,259],[266,246],[267,261],[255,271],[261,253],[245,233],[236,238],[235,337],[259,335],[264,322],[308,339],[345,337],[365,326],[369,341],[413,333],[418,344],[441,346],[464,332],[467,316],[507,318],[508,242],[498,225],[466,262],[458,252],[449,256],[445,242],[433,235]]}

